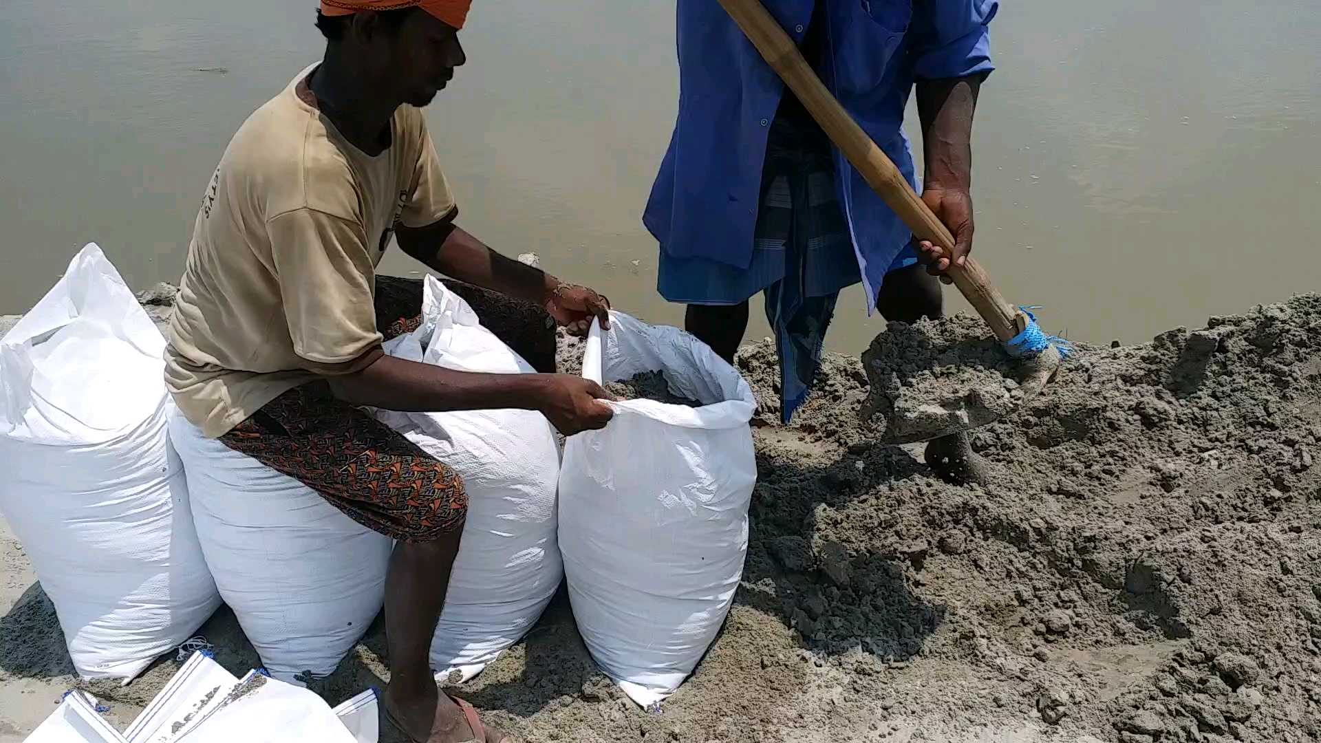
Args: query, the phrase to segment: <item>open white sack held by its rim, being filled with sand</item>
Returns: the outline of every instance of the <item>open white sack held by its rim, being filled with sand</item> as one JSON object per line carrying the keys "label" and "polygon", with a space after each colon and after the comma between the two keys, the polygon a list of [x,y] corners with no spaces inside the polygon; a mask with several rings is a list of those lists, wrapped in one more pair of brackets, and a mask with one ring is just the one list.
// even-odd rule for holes
{"label": "open white sack held by its rim, being filled with sand", "polygon": [[622,312],[593,323],[583,375],[664,372],[704,403],[612,402],[600,431],[569,436],[560,551],[579,631],[601,669],[643,706],[672,694],[715,640],[742,576],[757,481],[752,387],[694,336]]}

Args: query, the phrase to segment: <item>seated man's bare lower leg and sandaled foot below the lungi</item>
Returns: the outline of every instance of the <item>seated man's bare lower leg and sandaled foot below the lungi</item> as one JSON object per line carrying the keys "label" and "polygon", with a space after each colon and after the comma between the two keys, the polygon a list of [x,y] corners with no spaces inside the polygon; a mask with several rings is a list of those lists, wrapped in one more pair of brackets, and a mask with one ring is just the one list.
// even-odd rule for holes
{"label": "seated man's bare lower leg and sandaled foot below the lungi", "polygon": [[[386,645],[390,685],[384,705],[413,740],[457,743],[473,731],[431,672],[431,640],[445,606],[449,571],[458,554],[462,524],[433,542],[399,542],[386,575]],[[487,730],[489,740],[501,734]]]}

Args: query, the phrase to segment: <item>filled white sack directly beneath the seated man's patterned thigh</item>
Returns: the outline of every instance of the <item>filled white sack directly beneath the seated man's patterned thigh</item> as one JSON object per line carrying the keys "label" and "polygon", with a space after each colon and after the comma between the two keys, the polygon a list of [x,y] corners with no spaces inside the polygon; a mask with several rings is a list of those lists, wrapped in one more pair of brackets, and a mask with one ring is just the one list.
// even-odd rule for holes
{"label": "filled white sack directly beneath the seated man's patterned thigh", "polygon": [[206,565],[266,669],[330,676],[380,611],[394,542],[182,414],[169,428]]}

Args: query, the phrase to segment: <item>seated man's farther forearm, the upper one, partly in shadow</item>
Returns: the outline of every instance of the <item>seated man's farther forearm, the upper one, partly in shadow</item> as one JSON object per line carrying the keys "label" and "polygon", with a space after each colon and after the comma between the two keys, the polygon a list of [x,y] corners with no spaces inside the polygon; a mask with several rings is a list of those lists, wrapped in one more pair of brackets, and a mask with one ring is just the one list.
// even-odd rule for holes
{"label": "seated man's farther forearm, the upper one, partly in shadow", "polygon": [[559,283],[540,268],[486,247],[457,225],[399,230],[399,247],[431,268],[469,284],[542,305]]}

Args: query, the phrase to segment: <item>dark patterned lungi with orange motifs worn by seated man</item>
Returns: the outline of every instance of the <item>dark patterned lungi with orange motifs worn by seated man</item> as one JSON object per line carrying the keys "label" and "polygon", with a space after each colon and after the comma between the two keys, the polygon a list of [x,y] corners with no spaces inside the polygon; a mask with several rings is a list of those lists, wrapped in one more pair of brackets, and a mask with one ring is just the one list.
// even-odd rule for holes
{"label": "dark patterned lungi with orange motifs worn by seated man", "polygon": [[[420,296],[376,291],[386,338],[420,324]],[[358,524],[404,542],[435,541],[461,528],[468,494],[457,472],[357,407],[330,385],[284,393],[221,442],[293,477]]]}

